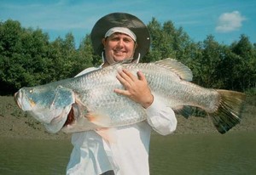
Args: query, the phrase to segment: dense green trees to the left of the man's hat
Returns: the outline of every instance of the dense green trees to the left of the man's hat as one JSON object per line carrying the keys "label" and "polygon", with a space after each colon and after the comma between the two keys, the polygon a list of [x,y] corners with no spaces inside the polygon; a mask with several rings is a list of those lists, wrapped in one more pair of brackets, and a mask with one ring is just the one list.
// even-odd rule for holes
{"label": "dense green trees to the left of the man's hat", "polygon": [[[21,27],[18,21],[0,23],[0,93],[15,93],[24,86],[35,86],[67,77],[92,66],[89,37],[79,49],[72,33],[49,42],[40,29]],[[86,50],[84,50],[86,49]]]}

